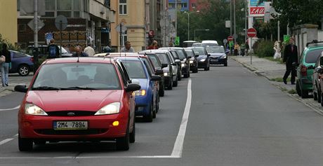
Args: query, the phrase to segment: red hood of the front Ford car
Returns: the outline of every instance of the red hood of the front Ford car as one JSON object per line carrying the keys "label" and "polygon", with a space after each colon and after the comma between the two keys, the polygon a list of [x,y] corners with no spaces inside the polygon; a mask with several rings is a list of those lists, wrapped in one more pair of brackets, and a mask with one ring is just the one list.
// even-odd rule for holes
{"label": "red hood of the front Ford car", "polygon": [[112,102],[119,102],[123,90],[30,90],[26,103],[44,111],[98,111]]}

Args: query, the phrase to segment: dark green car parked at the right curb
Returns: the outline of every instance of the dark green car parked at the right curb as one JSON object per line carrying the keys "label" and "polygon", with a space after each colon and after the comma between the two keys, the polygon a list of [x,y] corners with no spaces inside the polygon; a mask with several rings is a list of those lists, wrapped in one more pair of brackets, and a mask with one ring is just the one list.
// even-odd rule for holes
{"label": "dark green car parked at the right curb", "polygon": [[317,58],[323,51],[323,43],[312,41],[306,44],[301,60],[297,67],[296,91],[302,97],[308,97],[308,93],[312,92],[312,74],[315,69]]}

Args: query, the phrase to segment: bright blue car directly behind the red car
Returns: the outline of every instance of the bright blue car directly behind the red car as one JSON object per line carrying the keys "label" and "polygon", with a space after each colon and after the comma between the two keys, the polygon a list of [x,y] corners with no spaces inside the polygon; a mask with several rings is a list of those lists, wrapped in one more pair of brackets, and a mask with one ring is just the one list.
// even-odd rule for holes
{"label": "bright blue car directly behind the red car", "polygon": [[141,60],[140,57],[117,57],[124,62],[129,76],[133,83],[140,84],[141,89],[133,92],[136,96],[136,116],[143,116],[147,122],[152,122],[152,118],[156,118],[157,102],[159,102],[159,94],[155,81],[160,81],[160,76],[152,75],[152,71],[147,67],[148,64]]}

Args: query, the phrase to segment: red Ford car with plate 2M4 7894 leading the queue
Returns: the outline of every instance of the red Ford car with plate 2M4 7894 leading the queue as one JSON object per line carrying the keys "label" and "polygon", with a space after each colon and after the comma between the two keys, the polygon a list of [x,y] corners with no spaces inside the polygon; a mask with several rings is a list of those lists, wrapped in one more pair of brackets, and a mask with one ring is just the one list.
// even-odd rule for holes
{"label": "red Ford car with plate 2M4 7894 leading the queue", "polygon": [[135,141],[135,97],[126,67],[114,58],[67,57],[41,64],[18,113],[19,150],[46,141]]}

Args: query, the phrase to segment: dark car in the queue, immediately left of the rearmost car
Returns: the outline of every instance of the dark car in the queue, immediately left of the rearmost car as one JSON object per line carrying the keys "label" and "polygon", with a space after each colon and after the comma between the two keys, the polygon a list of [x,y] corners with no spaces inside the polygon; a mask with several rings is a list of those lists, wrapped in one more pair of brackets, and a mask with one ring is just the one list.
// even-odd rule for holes
{"label": "dark car in the queue, immediately left of the rearmost car", "polygon": [[197,62],[199,68],[203,68],[204,71],[210,70],[210,55],[206,52],[204,47],[191,47],[194,50],[197,57]]}

